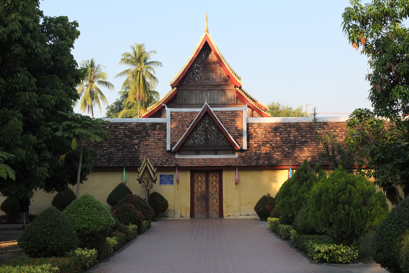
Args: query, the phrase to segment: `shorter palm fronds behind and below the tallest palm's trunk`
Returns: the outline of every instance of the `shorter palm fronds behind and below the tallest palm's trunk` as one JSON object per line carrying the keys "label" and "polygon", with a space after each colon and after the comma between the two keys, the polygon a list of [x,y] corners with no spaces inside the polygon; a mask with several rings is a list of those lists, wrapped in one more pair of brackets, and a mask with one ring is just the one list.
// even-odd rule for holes
{"label": "shorter palm fronds behind and below the tallest palm's trunk", "polygon": [[[120,97],[119,100],[123,102],[124,109],[118,113],[118,118],[126,117],[137,117],[138,115],[138,102],[136,100],[129,99],[129,86],[124,86],[122,91],[118,92]],[[140,104],[139,109],[145,111],[148,107],[159,100],[159,93],[153,90],[151,84],[148,86],[148,99],[143,100]]]}

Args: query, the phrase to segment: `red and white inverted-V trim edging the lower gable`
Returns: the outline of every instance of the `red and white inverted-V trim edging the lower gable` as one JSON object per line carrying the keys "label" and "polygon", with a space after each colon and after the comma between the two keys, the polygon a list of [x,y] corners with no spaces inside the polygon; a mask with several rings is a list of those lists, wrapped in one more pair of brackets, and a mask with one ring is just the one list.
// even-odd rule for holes
{"label": "red and white inverted-V trim edging the lower gable", "polygon": [[200,110],[199,114],[196,116],[196,118],[193,120],[193,122],[191,123],[191,125],[189,126],[189,128],[187,128],[186,132],[184,132],[183,136],[179,139],[178,143],[176,143],[176,145],[172,148],[173,152],[176,152],[177,150],[179,150],[179,148],[182,146],[182,144],[184,143],[184,141],[187,139],[187,137],[189,136],[189,134],[191,134],[191,132],[193,131],[193,129],[196,127],[196,125],[198,124],[198,122],[200,121],[200,118],[202,118],[202,116],[205,113],[209,113],[210,117],[213,119],[213,121],[216,123],[217,127],[220,129],[220,131],[222,131],[222,134],[227,138],[227,140],[229,141],[229,143],[233,146],[234,150],[240,150],[240,145],[238,145],[236,143],[236,141],[234,141],[234,139],[231,137],[231,135],[229,134],[229,132],[227,132],[226,128],[222,125],[222,123],[220,122],[220,120],[217,118],[216,114],[213,113],[213,111],[211,110],[210,106],[205,103],[205,105],[203,106],[203,108]]}

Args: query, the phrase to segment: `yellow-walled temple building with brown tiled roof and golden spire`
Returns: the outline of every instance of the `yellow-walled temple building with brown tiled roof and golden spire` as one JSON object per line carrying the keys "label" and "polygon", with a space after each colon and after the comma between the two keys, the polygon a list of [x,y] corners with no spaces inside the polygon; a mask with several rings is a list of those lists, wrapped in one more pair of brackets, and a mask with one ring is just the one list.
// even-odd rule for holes
{"label": "yellow-walled temple building with brown tiled roof and golden spire", "polygon": [[[99,156],[81,194],[88,192],[109,207],[106,198],[123,181],[125,168],[126,185],[144,197],[138,168],[148,157],[157,177],[150,191],[169,202],[164,217],[255,218],[258,199],[275,196],[290,166],[296,170],[304,159],[311,165],[320,162],[322,147],[312,118],[270,117],[267,107],[243,89],[211,38],[207,21],[170,85],[169,93],[142,118],[107,119],[106,129],[114,138],[90,145]],[[321,117],[319,125],[322,132],[343,139],[345,120]],[[32,213],[49,207],[52,197],[36,193]]]}

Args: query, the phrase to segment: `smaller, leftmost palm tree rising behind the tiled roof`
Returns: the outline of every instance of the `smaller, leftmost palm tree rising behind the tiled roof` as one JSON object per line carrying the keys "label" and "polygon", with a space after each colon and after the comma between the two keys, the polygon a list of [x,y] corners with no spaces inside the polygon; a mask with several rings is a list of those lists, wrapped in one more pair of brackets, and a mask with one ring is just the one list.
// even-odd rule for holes
{"label": "smaller, leftmost palm tree rising behind the tiled roof", "polygon": [[108,100],[97,85],[106,87],[108,90],[113,90],[114,85],[107,82],[108,73],[103,71],[105,66],[95,64],[94,58],[82,61],[79,67],[83,69],[85,74],[83,81],[77,85],[77,91],[81,96],[80,109],[83,112],[88,109],[88,113],[91,112],[92,118],[94,118],[94,105],[98,105],[99,111],[101,111],[101,101],[104,105],[108,105]]}

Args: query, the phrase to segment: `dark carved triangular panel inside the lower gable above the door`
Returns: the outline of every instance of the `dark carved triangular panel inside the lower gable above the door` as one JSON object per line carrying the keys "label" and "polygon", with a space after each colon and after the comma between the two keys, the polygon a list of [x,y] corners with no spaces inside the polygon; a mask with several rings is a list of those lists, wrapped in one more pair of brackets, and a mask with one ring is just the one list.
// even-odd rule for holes
{"label": "dark carved triangular panel inside the lower gable above the door", "polygon": [[233,146],[222,134],[209,114],[204,114],[189,134],[180,150],[232,150]]}

